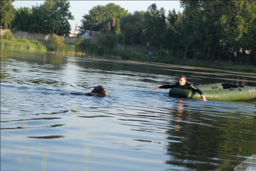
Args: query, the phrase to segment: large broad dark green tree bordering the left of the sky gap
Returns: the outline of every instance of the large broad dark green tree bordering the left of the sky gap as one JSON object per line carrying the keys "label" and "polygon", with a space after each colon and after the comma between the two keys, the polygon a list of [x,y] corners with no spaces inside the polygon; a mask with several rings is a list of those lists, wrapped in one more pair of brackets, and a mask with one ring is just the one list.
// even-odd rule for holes
{"label": "large broad dark green tree bordering the left of the sky gap", "polygon": [[68,35],[71,27],[68,20],[74,20],[69,12],[67,0],[46,0],[40,6],[32,6],[30,32]]}

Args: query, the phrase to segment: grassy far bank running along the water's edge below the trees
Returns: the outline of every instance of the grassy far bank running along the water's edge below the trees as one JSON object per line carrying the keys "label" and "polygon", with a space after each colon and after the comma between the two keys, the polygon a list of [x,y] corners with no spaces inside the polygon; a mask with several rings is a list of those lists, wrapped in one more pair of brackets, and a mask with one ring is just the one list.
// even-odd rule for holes
{"label": "grassy far bank running along the water's edge below the trees", "polygon": [[[5,34],[1,35],[1,49],[2,48],[10,48],[10,49],[25,49],[25,50],[36,50],[36,51],[54,51],[60,52],[70,55],[78,55],[83,57],[96,57],[98,55],[94,55],[94,53],[100,53],[102,49],[95,48],[97,47],[96,44],[93,42],[86,42],[86,45],[89,45],[91,49],[86,48],[88,51],[92,51],[91,54],[86,49],[79,49],[77,47],[84,45],[82,42],[81,45],[66,45],[64,40],[60,40],[62,37],[56,36],[56,40],[52,42],[47,41],[39,41],[34,39],[26,39],[25,37],[17,37],[14,38],[12,33],[6,32]],[[63,42],[62,42],[63,41]],[[104,48],[103,50],[104,51]],[[246,73],[256,73],[256,67],[253,65],[248,64],[240,64],[234,62],[227,62],[227,61],[202,61],[202,60],[193,60],[193,59],[186,59],[183,60],[179,57],[167,57],[162,55],[159,57],[158,52],[152,52],[150,59],[148,59],[148,51],[144,49],[136,49],[136,48],[120,48],[119,46],[115,46],[110,53],[99,55],[100,58],[104,56],[107,59],[114,59],[114,60],[126,60],[126,61],[140,61],[145,63],[165,63],[171,65],[182,65],[182,66],[190,66],[190,67],[204,67],[204,68],[212,68],[212,69],[224,69],[228,71],[239,71],[239,72],[246,72]],[[166,54],[167,55],[167,54]],[[108,56],[108,57],[107,57]]]}

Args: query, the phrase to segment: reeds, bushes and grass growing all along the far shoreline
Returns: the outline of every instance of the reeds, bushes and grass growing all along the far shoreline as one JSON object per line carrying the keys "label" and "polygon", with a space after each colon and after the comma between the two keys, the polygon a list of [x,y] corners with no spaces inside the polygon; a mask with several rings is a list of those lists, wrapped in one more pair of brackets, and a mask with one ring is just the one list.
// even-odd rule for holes
{"label": "reeds, bushes and grass growing all along the far shoreline", "polygon": [[[148,59],[148,51],[137,48],[122,48],[118,45],[118,37],[111,34],[104,34],[98,40],[78,39],[74,44],[66,44],[63,36],[53,35],[52,42],[27,39],[26,37],[13,37],[10,31],[1,35],[1,48],[26,49],[33,51],[54,51],[70,55],[84,57],[106,57],[114,60],[130,60],[148,63],[163,63],[172,65],[183,65],[190,67],[204,67],[212,69],[224,69],[229,71],[240,71],[256,73],[254,65],[241,64],[227,61],[204,61],[199,59],[183,59],[182,55],[172,56],[162,53],[159,58],[159,51],[151,52]],[[164,55],[163,55],[164,54]]]}

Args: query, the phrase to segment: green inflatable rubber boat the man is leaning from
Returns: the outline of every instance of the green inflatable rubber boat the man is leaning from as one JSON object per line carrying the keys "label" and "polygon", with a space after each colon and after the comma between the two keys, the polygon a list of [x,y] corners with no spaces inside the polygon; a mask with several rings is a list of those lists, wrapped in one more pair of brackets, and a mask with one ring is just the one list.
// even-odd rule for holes
{"label": "green inflatable rubber boat the man is leaning from", "polygon": [[[256,98],[255,86],[242,86],[228,83],[198,85],[207,100],[248,100]],[[169,96],[201,99],[200,94],[190,89],[171,88]]]}

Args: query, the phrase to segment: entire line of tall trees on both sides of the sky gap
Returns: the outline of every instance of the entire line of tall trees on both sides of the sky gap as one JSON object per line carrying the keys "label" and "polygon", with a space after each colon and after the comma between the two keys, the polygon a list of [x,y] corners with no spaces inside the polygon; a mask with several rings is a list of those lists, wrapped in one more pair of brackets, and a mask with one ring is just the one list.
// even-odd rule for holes
{"label": "entire line of tall trees on both sides of the sky gap", "polygon": [[[67,0],[47,0],[40,6],[14,9],[13,0],[1,1],[1,27],[37,33],[70,33],[74,19]],[[159,58],[236,61],[256,65],[256,1],[180,0],[183,12],[165,14],[151,4],[133,14],[110,3],[85,14],[80,32],[115,18],[119,43],[160,49]],[[94,28],[106,29],[108,24]]]}

